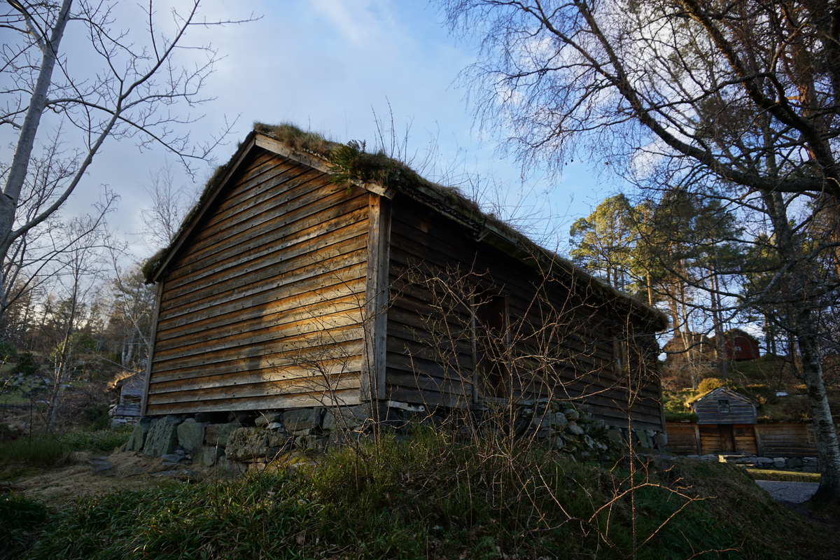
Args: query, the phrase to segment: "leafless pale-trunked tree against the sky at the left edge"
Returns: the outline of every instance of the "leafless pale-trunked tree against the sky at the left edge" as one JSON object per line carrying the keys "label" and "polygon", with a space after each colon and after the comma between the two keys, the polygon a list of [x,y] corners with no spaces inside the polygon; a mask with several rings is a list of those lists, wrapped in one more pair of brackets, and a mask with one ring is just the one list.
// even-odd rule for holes
{"label": "leafless pale-trunked tree against the sky at the left edge", "polygon": [[[199,4],[193,0],[159,11],[152,2],[127,8],[87,0],[8,0],[0,10],[0,127],[13,128],[17,135],[0,196],[0,320],[14,285],[9,276],[25,264],[25,259],[14,260],[21,240],[49,222],[108,138],[133,139],[141,149],[159,145],[188,169],[218,144],[213,139],[198,145],[189,138],[189,125],[197,120],[190,108],[207,101],[202,90],[218,53],[208,44],[189,44],[186,36],[195,26],[236,22],[202,18]],[[118,14],[128,9],[140,10],[134,15],[144,22],[142,30],[118,23]],[[199,53],[203,60],[197,62]],[[55,131],[49,139],[45,125]],[[39,181],[34,154],[47,149],[47,155],[55,155],[50,145],[66,146],[71,155],[60,160],[45,156],[49,181]],[[29,189],[39,199],[35,212],[22,207],[31,198],[25,194],[28,184],[43,187]]]}

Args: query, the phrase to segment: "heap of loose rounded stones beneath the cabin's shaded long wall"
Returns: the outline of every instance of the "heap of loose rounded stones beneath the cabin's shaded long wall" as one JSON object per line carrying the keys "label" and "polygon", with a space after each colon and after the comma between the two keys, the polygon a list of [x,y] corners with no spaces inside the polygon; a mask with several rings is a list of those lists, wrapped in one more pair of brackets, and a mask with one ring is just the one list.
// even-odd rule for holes
{"label": "heap of loose rounded stones beneath the cabin's shaded long wall", "polygon": [[535,437],[577,460],[607,460],[620,453],[620,432],[594,418],[587,405],[547,398],[524,400],[517,403],[516,414],[520,437]]}

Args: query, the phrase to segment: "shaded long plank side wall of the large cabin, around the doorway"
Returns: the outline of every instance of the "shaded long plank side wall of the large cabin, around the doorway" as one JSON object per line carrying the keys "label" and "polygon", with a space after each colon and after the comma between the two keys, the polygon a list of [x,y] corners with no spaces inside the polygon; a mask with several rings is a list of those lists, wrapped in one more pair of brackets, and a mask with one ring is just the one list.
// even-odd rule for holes
{"label": "shaded long plank side wall of the large cabin, around the doorway", "polygon": [[[470,277],[479,297],[484,293],[505,298],[516,356],[511,376],[514,397],[582,398],[592,405],[596,417],[627,427],[627,373],[617,367],[622,347],[616,343],[628,338],[623,328],[626,317],[594,303],[593,297],[575,296],[578,290],[569,285],[545,280],[521,261],[477,241],[469,229],[400,196],[392,201],[389,268],[389,399],[446,406],[473,402],[475,348],[468,302],[442,312],[435,305],[442,300],[433,296],[424,280],[439,275],[444,281],[436,285],[442,292],[463,293],[458,284]],[[448,277],[449,273],[454,274]],[[647,370],[654,372],[655,340],[651,332],[643,334],[638,340],[648,346]],[[630,348],[636,349],[632,344]],[[627,357],[634,370],[640,367],[638,352]],[[661,431],[654,376],[634,388],[637,395],[629,411],[634,427]]]}

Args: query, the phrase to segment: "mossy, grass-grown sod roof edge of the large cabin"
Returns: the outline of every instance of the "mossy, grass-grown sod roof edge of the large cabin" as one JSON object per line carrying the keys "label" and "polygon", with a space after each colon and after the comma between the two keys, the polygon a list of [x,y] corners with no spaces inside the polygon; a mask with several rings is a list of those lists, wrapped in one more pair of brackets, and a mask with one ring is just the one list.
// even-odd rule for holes
{"label": "mossy, grass-grown sod roof edge of the large cabin", "polygon": [[[597,279],[584,270],[580,270],[568,259],[563,259],[558,254],[548,249],[543,249],[522,233],[511,228],[507,223],[482,212],[475,201],[471,201],[464,196],[456,187],[442,186],[428,181],[418,175],[408,165],[389,157],[382,150],[368,152],[365,149],[364,142],[355,140],[351,140],[347,144],[333,142],[321,134],[304,131],[302,128],[291,123],[275,125],[254,123],[254,133],[276,139],[292,151],[312,154],[318,159],[324,160],[330,167],[331,181],[335,184],[346,185],[351,182],[362,184],[375,183],[386,189],[402,191],[412,196],[417,196],[433,207],[436,207],[439,211],[447,212],[461,220],[469,222],[475,228],[487,229],[491,232],[495,231],[501,238],[506,240],[504,243],[513,243],[516,246],[515,251],[517,254],[514,256],[517,258],[533,259],[540,266],[548,264],[553,274],[562,271],[564,274],[574,277],[579,282],[582,280],[580,287],[592,289],[605,301],[629,304],[631,308],[641,312],[648,321],[654,322],[660,330],[667,327],[668,318],[658,309],[648,306],[643,301],[615,289],[612,285],[606,284],[604,281]],[[254,133],[249,135],[249,139]],[[234,165],[234,162],[239,159],[246,144],[249,143],[244,142],[244,144],[240,145],[239,150],[228,161],[228,164],[220,165],[215,170],[213,176],[207,181],[207,186],[202,192],[202,196],[181,223],[181,228],[176,234],[173,243],[146,261],[143,267],[146,282],[154,281],[161,265],[165,263],[171,250],[175,249],[176,243],[181,238],[181,234],[192,223],[193,217],[196,216],[197,212],[200,212],[202,207],[204,207],[207,199],[214,196],[216,187],[223,180],[228,167]]]}

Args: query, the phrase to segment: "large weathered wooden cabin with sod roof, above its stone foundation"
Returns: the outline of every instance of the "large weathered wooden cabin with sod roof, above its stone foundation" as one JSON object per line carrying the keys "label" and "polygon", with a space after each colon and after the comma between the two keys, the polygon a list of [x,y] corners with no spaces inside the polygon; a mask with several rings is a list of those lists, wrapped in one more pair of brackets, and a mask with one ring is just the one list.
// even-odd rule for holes
{"label": "large weathered wooden cabin with sod roof, above its stone foundation", "polygon": [[553,395],[664,429],[663,313],[458,191],[311,136],[258,125],[147,264],[145,415]]}

